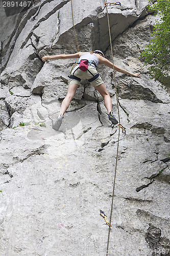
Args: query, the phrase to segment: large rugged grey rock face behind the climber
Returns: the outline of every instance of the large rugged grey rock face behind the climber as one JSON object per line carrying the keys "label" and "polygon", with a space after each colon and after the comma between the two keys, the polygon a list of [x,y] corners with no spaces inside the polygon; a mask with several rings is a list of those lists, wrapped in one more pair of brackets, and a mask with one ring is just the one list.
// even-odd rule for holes
{"label": "large rugged grey rock face behind the climber", "polygon": [[[154,17],[147,1],[108,7],[121,124],[109,255],[169,255],[169,116],[167,91],[149,79],[140,53]],[[111,60],[102,1],[73,1],[80,51]],[[82,81],[59,131],[52,129],[76,59],[71,2],[41,1],[6,17],[1,32],[0,255],[106,254],[118,126],[102,96]],[[98,68],[117,117],[113,72]],[[128,120],[127,120],[128,119]]]}

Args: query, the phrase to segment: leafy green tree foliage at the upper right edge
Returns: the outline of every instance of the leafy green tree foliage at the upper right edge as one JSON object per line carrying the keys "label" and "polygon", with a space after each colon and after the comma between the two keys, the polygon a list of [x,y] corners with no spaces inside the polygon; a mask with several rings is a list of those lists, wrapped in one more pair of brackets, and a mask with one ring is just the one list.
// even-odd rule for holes
{"label": "leafy green tree foliage at the upper right edge", "polygon": [[[151,1],[150,1],[151,3]],[[170,86],[170,0],[158,0],[149,9],[155,11],[160,19],[156,20],[152,39],[141,54],[149,67],[151,78]]]}

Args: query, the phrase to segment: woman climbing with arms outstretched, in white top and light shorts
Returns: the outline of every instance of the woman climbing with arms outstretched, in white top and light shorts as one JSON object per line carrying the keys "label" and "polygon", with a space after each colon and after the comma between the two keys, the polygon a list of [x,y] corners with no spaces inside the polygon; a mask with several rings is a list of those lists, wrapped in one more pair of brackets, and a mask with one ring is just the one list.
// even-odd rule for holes
{"label": "woman climbing with arms outstretched, in white top and light shorts", "polygon": [[[112,113],[112,101],[110,95],[106,89],[106,86],[99,75],[96,69],[99,64],[103,64],[113,69],[113,63],[105,58],[105,55],[100,50],[95,50],[94,52],[77,52],[75,54],[59,54],[53,56],[43,56],[42,61],[51,60],[51,59],[70,59],[70,58],[79,58],[79,61],[72,66],[71,73],[68,80],[68,92],[61,104],[60,115],[53,125],[53,129],[59,130],[63,115],[68,109],[70,101],[75,96],[76,90],[80,86],[81,79],[88,79],[88,82],[103,96],[104,104],[108,112],[109,120],[112,124],[117,124],[118,121]],[[123,74],[131,75],[134,77],[141,76],[138,73],[132,74],[124,69],[118,68],[114,65],[114,70],[121,72]]]}

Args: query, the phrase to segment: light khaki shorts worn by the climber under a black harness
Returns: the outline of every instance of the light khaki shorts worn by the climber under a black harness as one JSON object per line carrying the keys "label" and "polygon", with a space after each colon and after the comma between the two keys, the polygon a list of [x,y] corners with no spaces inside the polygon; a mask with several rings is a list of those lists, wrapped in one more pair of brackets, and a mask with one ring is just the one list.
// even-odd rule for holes
{"label": "light khaki shorts worn by the climber under a black harness", "polygon": [[[93,75],[95,75],[95,74],[97,74],[98,73],[98,71],[96,71],[96,69],[93,67],[93,66],[91,66],[91,65],[89,65],[88,66],[88,70],[90,71],[90,72],[88,72],[88,71],[82,71],[82,70],[80,70],[80,69],[78,69],[78,67],[79,67],[79,65],[75,65],[75,67],[72,69],[72,71],[71,71],[71,75],[75,72],[75,70],[76,70],[76,72],[74,73],[74,75],[75,76],[77,76],[77,77],[79,77],[79,78],[81,78],[81,79],[90,79],[90,78],[92,78],[93,76],[90,74],[90,72],[93,74]],[[68,86],[70,86],[70,84],[72,84],[72,83],[76,83],[76,84],[78,84],[78,86],[80,86],[80,81],[78,81],[78,80],[76,80],[76,79],[72,79],[72,78],[70,78],[70,79],[68,79]],[[96,86],[100,86],[102,83],[104,83],[103,82],[103,80],[102,80],[102,78],[101,78],[101,76],[99,76],[97,79],[95,79],[94,81],[92,81],[92,82],[90,82],[91,83],[91,85],[93,86],[93,87],[96,87]]]}

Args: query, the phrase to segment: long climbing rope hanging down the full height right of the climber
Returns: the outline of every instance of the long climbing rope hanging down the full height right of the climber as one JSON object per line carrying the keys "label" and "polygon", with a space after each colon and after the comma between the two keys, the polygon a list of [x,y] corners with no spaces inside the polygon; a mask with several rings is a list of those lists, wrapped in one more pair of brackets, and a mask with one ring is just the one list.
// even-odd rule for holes
{"label": "long climbing rope hanging down the full height right of the climber", "polygon": [[[105,0],[104,0],[104,2],[105,2],[105,5],[106,5]],[[120,124],[120,114],[119,114],[119,108],[118,108],[118,96],[117,96],[116,78],[115,78],[115,70],[114,70],[114,59],[113,59],[113,50],[112,50],[112,41],[111,41],[110,23],[109,23],[109,14],[108,14],[107,5],[106,5],[106,10],[107,10],[107,19],[108,19],[108,28],[109,28],[110,48],[111,48],[112,63],[113,63],[113,74],[114,74],[114,84],[115,84],[116,101],[117,101],[118,121],[119,121],[119,124]],[[117,159],[118,159],[118,146],[119,146],[119,137],[120,137],[120,125],[118,127],[119,127],[119,129],[118,129],[118,142],[117,142],[117,152],[116,152],[116,162],[115,162],[113,192],[112,192],[112,203],[111,203],[111,212],[110,212],[110,221],[109,221],[110,224],[111,224],[111,220],[112,220],[113,199],[114,199],[114,189],[115,189],[115,180],[116,180],[116,168],[117,168]],[[108,256],[108,250],[109,250],[110,229],[111,229],[111,227],[109,226],[106,256]]]}

